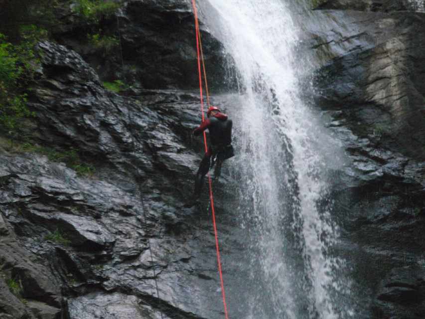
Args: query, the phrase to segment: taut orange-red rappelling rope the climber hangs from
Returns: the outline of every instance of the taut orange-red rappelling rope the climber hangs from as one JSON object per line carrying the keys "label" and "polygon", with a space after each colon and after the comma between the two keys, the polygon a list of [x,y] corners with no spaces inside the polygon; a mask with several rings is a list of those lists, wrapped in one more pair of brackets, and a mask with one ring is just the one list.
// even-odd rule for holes
{"label": "taut orange-red rappelling rope the climber hangs from", "polygon": [[[202,52],[202,43],[201,43],[201,33],[199,31],[199,22],[198,22],[198,12],[196,10],[196,3],[195,0],[192,0],[193,5],[193,14],[195,16],[195,32],[196,32],[196,53],[198,57],[198,74],[199,74],[199,92],[201,97],[201,112],[202,112],[202,122],[205,121],[204,116],[204,99],[202,94],[202,72],[201,72],[201,57],[202,57],[202,66],[204,71],[204,80],[205,80],[205,88],[207,93],[207,104],[210,106],[210,98],[209,98],[209,92],[208,92],[208,84],[207,84],[207,75],[205,71],[205,62],[204,62],[204,54]],[[207,146],[207,138],[204,131],[204,145],[205,145],[205,152],[208,152],[208,146]],[[213,219],[213,226],[214,226],[214,236],[215,236],[215,247],[217,251],[217,264],[218,264],[218,272],[220,275],[220,285],[221,285],[221,294],[223,296],[223,306],[224,306],[224,315],[226,319],[229,319],[229,315],[227,313],[227,304],[226,304],[226,294],[224,292],[224,283],[223,283],[223,273],[221,270],[221,260],[220,260],[220,249],[218,245],[218,235],[217,235],[217,225],[215,222],[215,209],[214,209],[214,196],[212,191],[212,182],[211,182],[211,175],[208,173],[208,184],[209,184],[209,193],[210,193],[210,202],[211,202],[211,212],[212,212],[212,219]]]}

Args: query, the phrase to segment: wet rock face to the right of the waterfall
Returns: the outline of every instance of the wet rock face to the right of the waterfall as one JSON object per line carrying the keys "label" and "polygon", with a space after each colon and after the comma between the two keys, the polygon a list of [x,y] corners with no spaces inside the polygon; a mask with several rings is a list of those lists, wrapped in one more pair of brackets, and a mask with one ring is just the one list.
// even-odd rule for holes
{"label": "wet rock face to the right of the waterfall", "polygon": [[335,218],[368,318],[425,313],[425,14],[408,2],[325,1],[307,23],[315,100],[351,160]]}

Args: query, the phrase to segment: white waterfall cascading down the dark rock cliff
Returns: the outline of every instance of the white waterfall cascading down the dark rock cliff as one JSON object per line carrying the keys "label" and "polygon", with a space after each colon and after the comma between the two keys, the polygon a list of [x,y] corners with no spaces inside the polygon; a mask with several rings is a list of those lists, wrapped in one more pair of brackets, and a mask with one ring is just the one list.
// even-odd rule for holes
{"label": "white waterfall cascading down the dark rock cliff", "polygon": [[[289,2],[288,0],[286,2]],[[327,198],[327,167],[337,148],[300,98],[294,48],[297,27],[284,0],[204,0],[237,70],[229,100],[238,155],[238,209],[248,233],[250,278],[239,287],[241,318],[350,318],[342,303],[343,264]],[[208,14],[204,14],[208,15]],[[209,14],[211,16],[211,14]],[[241,125],[241,123],[243,125]],[[248,305],[248,306],[247,306]]]}

